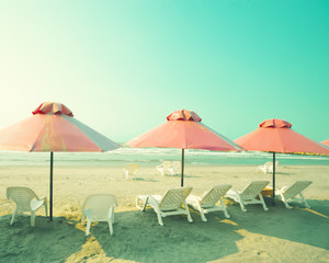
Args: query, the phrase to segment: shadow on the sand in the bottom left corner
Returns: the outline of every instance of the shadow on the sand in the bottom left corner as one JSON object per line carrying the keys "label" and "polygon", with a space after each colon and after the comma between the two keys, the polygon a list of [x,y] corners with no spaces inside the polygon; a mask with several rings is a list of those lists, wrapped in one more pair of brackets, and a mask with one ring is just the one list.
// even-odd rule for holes
{"label": "shadow on the sand in the bottom left corner", "polygon": [[65,262],[81,250],[86,237],[64,217],[37,216],[31,227],[30,216],[18,215],[10,226],[11,216],[0,217],[0,262]]}

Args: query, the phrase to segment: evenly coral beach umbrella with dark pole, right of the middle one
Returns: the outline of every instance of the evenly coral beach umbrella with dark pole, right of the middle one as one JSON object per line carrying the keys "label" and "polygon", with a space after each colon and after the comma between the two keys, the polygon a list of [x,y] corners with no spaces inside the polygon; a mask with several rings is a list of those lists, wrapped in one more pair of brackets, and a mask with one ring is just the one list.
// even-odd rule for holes
{"label": "evenly coral beach umbrella with dark pole, right of the middle one", "polygon": [[275,191],[275,152],[299,155],[329,155],[329,149],[292,129],[283,119],[266,119],[259,128],[235,140],[251,151],[273,152],[273,204]]}

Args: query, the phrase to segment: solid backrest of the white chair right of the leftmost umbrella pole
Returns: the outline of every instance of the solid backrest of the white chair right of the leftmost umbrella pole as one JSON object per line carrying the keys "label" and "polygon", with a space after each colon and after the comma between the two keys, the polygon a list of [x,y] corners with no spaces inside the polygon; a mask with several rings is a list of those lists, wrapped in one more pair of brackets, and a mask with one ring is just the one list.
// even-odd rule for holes
{"label": "solid backrest of the white chair right of the leftmost umbrella pole", "polygon": [[117,202],[112,194],[92,194],[89,195],[84,203],[83,209],[91,209],[92,220],[107,220],[109,210],[111,207],[117,206]]}

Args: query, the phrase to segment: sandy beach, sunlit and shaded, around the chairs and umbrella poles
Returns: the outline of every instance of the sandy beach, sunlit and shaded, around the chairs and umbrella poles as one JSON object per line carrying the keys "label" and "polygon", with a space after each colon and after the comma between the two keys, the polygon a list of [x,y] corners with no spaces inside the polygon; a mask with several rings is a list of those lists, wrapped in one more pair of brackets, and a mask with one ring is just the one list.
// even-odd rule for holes
{"label": "sandy beach, sunlit and shaded, around the chairs and umbrella poles", "polygon": [[[281,165],[277,187],[296,180],[314,183],[304,192],[310,209],[295,203],[286,209],[282,202],[264,211],[226,199],[230,218],[222,211],[207,215],[207,222],[191,209],[193,222],[183,216],[163,218],[158,224],[152,209],[135,207],[137,194],[163,194],[180,185],[179,176],[156,174],[155,167],[140,167],[136,180],[123,178],[123,167],[54,168],[54,221],[39,209],[34,228],[30,216],[18,216],[9,225],[14,205],[5,198],[8,186],[29,186],[38,196],[47,195],[49,168],[0,168],[0,262],[329,262],[329,167]],[[185,185],[201,195],[216,184],[242,190],[253,180],[272,181],[254,165],[188,165]],[[92,224],[84,236],[81,206],[93,193],[117,197],[114,235],[105,222]]]}

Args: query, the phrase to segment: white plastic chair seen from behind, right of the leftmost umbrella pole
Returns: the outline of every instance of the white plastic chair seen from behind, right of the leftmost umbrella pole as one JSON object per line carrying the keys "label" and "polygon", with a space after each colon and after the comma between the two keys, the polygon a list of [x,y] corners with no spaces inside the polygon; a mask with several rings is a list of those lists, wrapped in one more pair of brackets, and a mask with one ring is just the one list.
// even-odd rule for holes
{"label": "white plastic chair seen from behind, right of the leftmost umbrella pole", "polygon": [[106,221],[110,235],[113,235],[114,206],[117,206],[117,202],[115,196],[111,194],[93,194],[86,198],[82,205],[81,219],[81,224],[84,225],[84,217],[87,217],[86,236],[89,236],[92,221]]}

